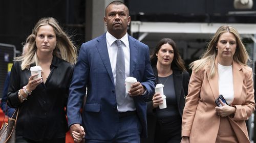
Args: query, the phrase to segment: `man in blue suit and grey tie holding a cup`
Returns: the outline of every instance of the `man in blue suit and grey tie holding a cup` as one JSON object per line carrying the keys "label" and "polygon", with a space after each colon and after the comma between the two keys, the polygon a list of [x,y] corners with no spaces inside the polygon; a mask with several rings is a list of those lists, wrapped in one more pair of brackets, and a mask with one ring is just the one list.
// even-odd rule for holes
{"label": "man in blue suit and grey tie holding a cup", "polygon": [[[128,8],[119,1],[105,9],[107,32],[83,43],[74,68],[67,115],[75,142],[140,142],[146,137],[146,99],[155,89],[148,46],[127,34],[131,22]],[[128,95],[116,99],[116,40],[121,40],[125,77],[135,77]],[[123,86],[125,86],[123,84]],[[83,97],[86,103],[82,108]],[[84,130],[83,130],[84,127]]]}

